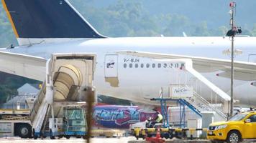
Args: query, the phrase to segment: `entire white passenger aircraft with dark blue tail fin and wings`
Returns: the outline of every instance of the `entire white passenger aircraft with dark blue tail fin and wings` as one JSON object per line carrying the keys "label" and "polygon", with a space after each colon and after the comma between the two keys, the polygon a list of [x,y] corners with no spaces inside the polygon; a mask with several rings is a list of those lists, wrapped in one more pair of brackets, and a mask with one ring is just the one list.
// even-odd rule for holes
{"label": "entire white passenger aircraft with dark blue tail fin and wings", "polygon": [[[124,37],[99,34],[67,0],[1,0],[19,46],[1,51],[0,71],[45,80],[45,61],[54,53],[97,54],[94,85],[99,94],[149,103],[161,87],[190,82],[183,64],[168,59],[192,59],[193,68],[229,94],[228,37]],[[256,102],[256,38],[236,37],[242,51],[234,62],[234,99],[238,105]],[[209,89],[200,94],[212,100]]]}

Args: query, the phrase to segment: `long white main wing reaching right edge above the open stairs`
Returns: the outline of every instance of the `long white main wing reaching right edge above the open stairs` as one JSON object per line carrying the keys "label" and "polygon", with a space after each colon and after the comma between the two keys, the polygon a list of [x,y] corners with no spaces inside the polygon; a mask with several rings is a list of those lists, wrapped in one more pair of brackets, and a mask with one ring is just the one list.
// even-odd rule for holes
{"label": "long white main wing reaching right edge above the open stairs", "polygon": [[[219,77],[230,77],[231,60],[211,59],[198,56],[183,56],[176,54],[160,54],[143,51],[116,51],[118,54],[131,56],[142,56],[152,59],[192,59],[193,69],[198,72],[222,71],[217,74]],[[234,79],[253,81],[256,80],[256,63],[234,61]]]}

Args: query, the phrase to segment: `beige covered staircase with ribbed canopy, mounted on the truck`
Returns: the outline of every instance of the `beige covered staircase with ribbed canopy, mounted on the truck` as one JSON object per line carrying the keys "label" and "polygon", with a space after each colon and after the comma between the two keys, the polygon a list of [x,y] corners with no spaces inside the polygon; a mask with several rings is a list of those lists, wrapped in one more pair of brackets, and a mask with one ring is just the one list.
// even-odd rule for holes
{"label": "beige covered staircase with ribbed canopy, mounted on the truck", "polygon": [[46,80],[42,84],[30,112],[34,138],[44,132],[48,118],[58,118],[61,106],[85,102],[86,89],[93,89],[94,54],[53,54],[46,65]]}

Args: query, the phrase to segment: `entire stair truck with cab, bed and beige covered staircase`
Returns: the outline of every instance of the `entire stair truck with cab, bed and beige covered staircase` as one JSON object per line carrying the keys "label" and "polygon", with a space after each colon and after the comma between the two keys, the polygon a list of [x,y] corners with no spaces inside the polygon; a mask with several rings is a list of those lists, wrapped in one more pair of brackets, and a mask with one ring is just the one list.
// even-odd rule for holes
{"label": "entire stair truck with cab, bed and beige covered staircase", "polygon": [[47,136],[51,139],[86,138],[83,108],[88,97],[94,97],[95,93],[92,86],[95,58],[94,54],[86,53],[52,54],[46,62],[47,78],[32,108],[25,113],[11,110],[9,115],[6,113],[8,110],[4,110],[0,118],[3,131],[0,133],[9,133],[6,137],[12,137],[15,132],[21,132],[19,137],[34,139]]}

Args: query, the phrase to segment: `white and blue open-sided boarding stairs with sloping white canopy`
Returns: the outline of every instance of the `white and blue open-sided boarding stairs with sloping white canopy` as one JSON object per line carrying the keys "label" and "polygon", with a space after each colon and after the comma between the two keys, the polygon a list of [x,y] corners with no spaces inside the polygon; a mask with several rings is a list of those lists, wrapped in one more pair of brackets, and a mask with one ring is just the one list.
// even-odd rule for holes
{"label": "white and blue open-sided boarding stairs with sloping white canopy", "polygon": [[[184,65],[183,71],[190,74],[191,77],[196,79],[200,84],[204,84],[204,88],[208,88],[211,93],[208,95],[201,95],[198,91],[198,85],[195,84],[175,84],[162,87],[160,98],[157,98],[158,101],[161,103],[161,107],[166,106],[166,102],[168,100],[175,100],[180,105],[183,105],[183,107],[188,107],[188,109],[191,109],[195,114],[202,117],[201,112],[214,112],[214,122],[216,121],[225,121],[227,120],[227,113],[229,111],[229,101],[230,97],[227,93],[223,92],[219,87],[216,87],[213,83],[211,83],[208,79],[206,79],[202,74],[200,74],[198,71],[193,69],[193,64],[191,59],[168,59],[166,62],[180,62]],[[186,79],[187,81],[187,79]],[[173,88],[174,87],[174,88]],[[175,94],[174,90],[178,91],[185,91],[182,93]],[[164,95],[164,92],[165,95]],[[215,97],[213,96],[215,95]],[[211,97],[206,100],[204,97]],[[218,102],[215,101],[212,102],[213,98],[218,97]],[[209,99],[211,99],[211,102],[209,102]],[[166,110],[166,111],[165,111]],[[162,112],[167,113],[167,108],[165,107],[162,109]],[[168,122],[167,114],[164,117],[165,120]],[[184,117],[185,118],[185,117]]]}

